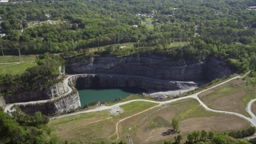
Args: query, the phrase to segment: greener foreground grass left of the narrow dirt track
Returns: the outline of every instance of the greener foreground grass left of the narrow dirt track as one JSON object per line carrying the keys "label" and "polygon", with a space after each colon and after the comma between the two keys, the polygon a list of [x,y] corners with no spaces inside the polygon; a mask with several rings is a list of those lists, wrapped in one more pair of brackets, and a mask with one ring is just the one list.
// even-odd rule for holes
{"label": "greener foreground grass left of the narrow dirt track", "polygon": [[117,121],[156,105],[151,102],[130,102],[121,106],[124,113],[117,116],[110,115],[107,110],[103,110],[53,119],[49,126],[54,130],[54,134],[64,140],[82,141],[83,143],[98,143],[100,141],[110,143],[114,138],[109,138],[109,136],[115,132]]}

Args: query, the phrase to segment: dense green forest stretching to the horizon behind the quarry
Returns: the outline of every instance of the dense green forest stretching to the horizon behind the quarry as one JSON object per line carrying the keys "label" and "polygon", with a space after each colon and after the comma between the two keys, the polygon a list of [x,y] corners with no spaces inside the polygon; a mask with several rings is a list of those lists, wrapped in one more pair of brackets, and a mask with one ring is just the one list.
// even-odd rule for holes
{"label": "dense green forest stretching to the horizon behind the quarry", "polygon": [[[11,2],[0,8],[5,54],[20,49],[23,54],[62,53],[61,58],[68,58],[86,54],[89,47],[134,42],[138,49],[105,50],[117,55],[150,50],[178,60],[211,55],[239,71],[256,65],[256,11],[246,10],[255,1]],[[48,19],[58,22],[51,25]],[[173,42],[190,44],[170,47]]]}

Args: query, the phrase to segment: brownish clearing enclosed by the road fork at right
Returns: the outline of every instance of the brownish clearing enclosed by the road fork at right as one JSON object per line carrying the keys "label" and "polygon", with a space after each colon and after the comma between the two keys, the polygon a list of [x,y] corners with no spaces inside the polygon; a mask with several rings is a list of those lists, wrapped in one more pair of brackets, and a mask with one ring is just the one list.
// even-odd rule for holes
{"label": "brownish clearing enclosed by the road fork at right", "polygon": [[242,79],[234,79],[209,91],[203,92],[198,97],[216,110],[233,111],[246,117],[251,117],[246,112],[247,103],[256,98],[254,87],[242,84]]}

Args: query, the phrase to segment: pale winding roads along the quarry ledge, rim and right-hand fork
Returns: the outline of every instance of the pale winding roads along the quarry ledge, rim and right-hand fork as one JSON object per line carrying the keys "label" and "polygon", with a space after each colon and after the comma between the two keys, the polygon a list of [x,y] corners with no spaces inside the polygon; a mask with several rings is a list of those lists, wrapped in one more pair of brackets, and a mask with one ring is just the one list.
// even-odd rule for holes
{"label": "pale winding roads along the quarry ledge, rim and right-hand fork", "polygon": [[[247,73],[247,74],[248,74],[248,73]],[[83,74],[79,74],[79,75],[83,75]],[[245,75],[246,75],[246,74],[245,74]],[[65,79],[65,84],[66,84],[66,86],[68,87],[68,92],[65,93],[65,94],[62,94],[61,97],[63,97],[63,96],[65,96],[65,95],[69,94],[69,93],[72,91],[71,87],[68,86],[68,82],[69,82],[69,78],[70,78],[70,77],[73,77],[73,76],[76,76],[76,75],[71,75],[71,76],[69,76],[69,77],[67,77],[67,78]],[[138,76],[138,77],[139,77],[139,76]],[[143,77],[143,78],[144,78],[144,77]],[[131,101],[126,101],[126,102],[117,103],[117,104],[115,104],[115,105],[113,105],[113,106],[100,106],[100,107],[97,107],[97,108],[91,109],[91,110],[78,111],[78,112],[76,112],[76,113],[71,113],[71,114],[67,114],[67,115],[52,117],[51,119],[53,119],[53,118],[61,118],[61,117],[66,117],[66,116],[72,116],[72,115],[77,115],[77,114],[83,114],[83,113],[90,113],[90,112],[93,112],[93,111],[107,110],[107,109],[111,109],[111,108],[116,107],[116,106],[125,105],[126,103],[133,102],[133,101],[148,101],[148,102],[159,103],[159,105],[164,105],[164,104],[166,104],[166,103],[170,103],[170,102],[173,102],[173,101],[178,101],[178,100],[188,99],[188,98],[194,98],[194,99],[196,99],[197,101],[199,101],[199,103],[200,103],[206,110],[208,110],[208,111],[213,111],[213,112],[215,112],[215,113],[223,113],[223,114],[236,115],[236,116],[239,116],[239,117],[242,117],[242,118],[246,119],[246,120],[249,121],[253,126],[256,126],[256,116],[255,116],[255,115],[252,113],[252,111],[251,111],[252,103],[253,103],[254,101],[256,101],[256,99],[251,100],[251,101],[248,103],[248,105],[247,105],[247,108],[246,108],[246,109],[247,109],[248,113],[252,116],[252,118],[249,118],[249,117],[246,117],[246,116],[244,116],[244,115],[241,115],[241,114],[238,114],[238,113],[234,113],[234,112],[230,112],[230,111],[221,111],[221,110],[210,109],[209,107],[207,107],[207,106],[198,98],[198,94],[200,94],[200,93],[202,93],[202,92],[205,92],[205,91],[208,91],[208,90],[211,90],[211,89],[213,89],[214,87],[217,87],[217,86],[219,86],[219,85],[222,85],[222,84],[224,84],[224,83],[227,83],[227,82],[229,82],[229,81],[231,81],[231,80],[233,80],[233,79],[236,79],[236,78],[241,78],[241,76],[236,76],[236,77],[234,77],[234,78],[228,79],[228,80],[225,81],[225,82],[222,82],[222,83],[220,83],[220,84],[217,84],[217,85],[215,85],[215,86],[212,86],[212,87],[210,87],[209,89],[206,89],[206,90],[197,92],[197,93],[195,93],[195,94],[189,95],[189,96],[187,96],[187,97],[181,97],[181,98],[173,99],[173,100],[169,100],[169,101],[157,102],[157,101],[153,101],[153,100],[142,100],[142,99],[131,100]],[[60,97],[58,97],[58,99],[59,99],[59,98],[60,98]],[[11,107],[12,107],[13,105],[15,105],[15,104],[16,104],[16,105],[26,105],[26,104],[28,104],[28,103],[47,102],[47,101],[49,101],[49,100],[39,100],[39,101],[12,103],[12,104],[6,106],[6,107],[4,108],[4,111],[5,111],[5,112],[6,112],[7,110],[8,110],[8,111],[11,111]]]}

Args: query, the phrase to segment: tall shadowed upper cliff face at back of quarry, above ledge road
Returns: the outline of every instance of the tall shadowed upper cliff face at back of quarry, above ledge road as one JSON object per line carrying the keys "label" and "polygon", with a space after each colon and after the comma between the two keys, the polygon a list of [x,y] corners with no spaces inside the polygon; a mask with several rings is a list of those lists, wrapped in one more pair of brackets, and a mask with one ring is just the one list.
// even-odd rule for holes
{"label": "tall shadowed upper cliff face at back of quarry, above ledge road", "polygon": [[122,74],[177,81],[215,79],[233,74],[225,63],[214,58],[176,61],[154,55],[94,57],[67,65],[65,69],[68,74]]}

